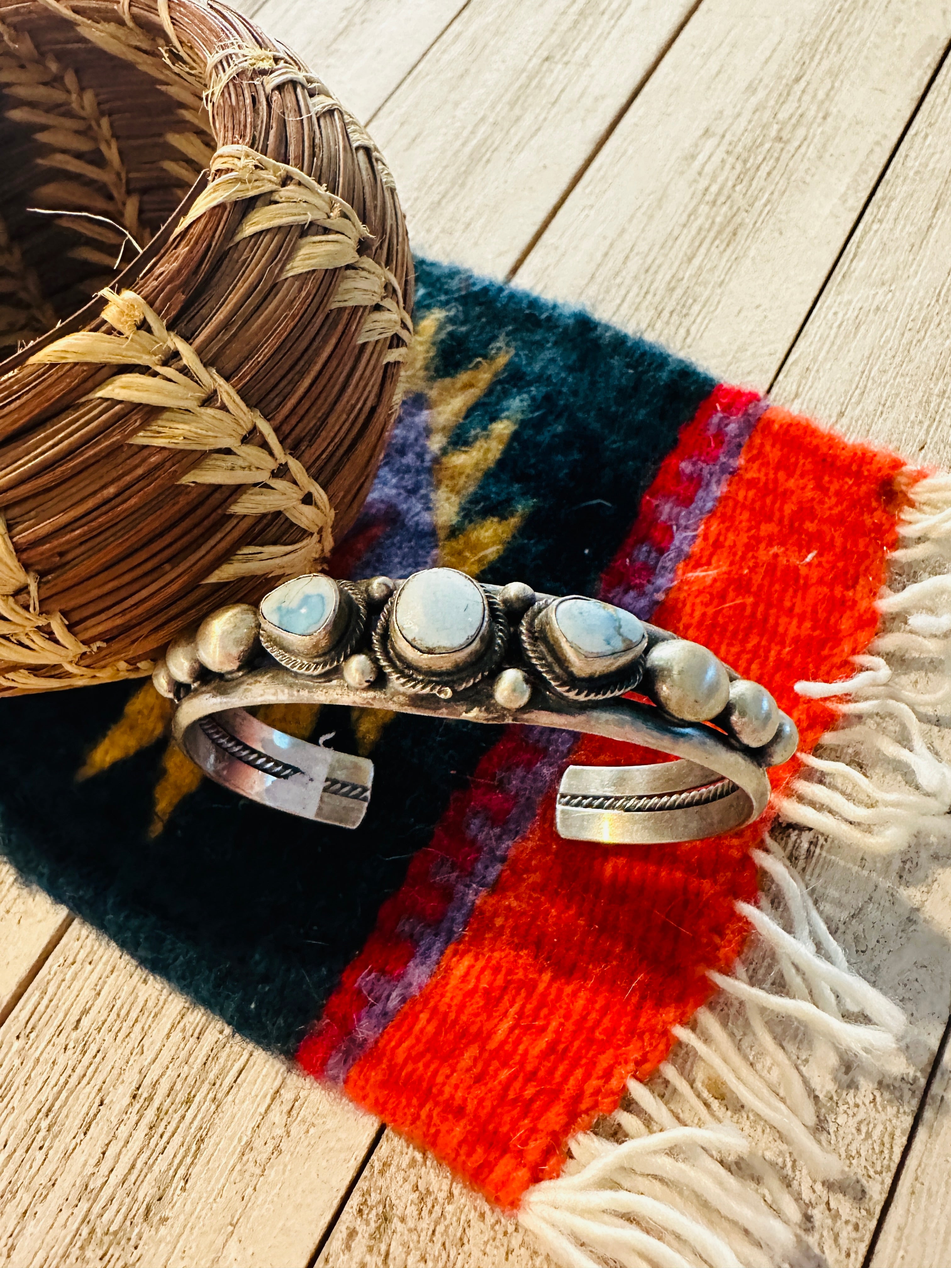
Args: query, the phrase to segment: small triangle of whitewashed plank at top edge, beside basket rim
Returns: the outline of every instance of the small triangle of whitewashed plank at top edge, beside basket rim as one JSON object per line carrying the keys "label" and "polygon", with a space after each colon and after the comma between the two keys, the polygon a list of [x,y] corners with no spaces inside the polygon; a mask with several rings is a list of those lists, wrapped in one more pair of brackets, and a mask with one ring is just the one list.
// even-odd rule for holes
{"label": "small triangle of whitewashed plank at top edge, beside basket rim", "polygon": [[366,123],[465,0],[243,0],[269,36],[299,53]]}

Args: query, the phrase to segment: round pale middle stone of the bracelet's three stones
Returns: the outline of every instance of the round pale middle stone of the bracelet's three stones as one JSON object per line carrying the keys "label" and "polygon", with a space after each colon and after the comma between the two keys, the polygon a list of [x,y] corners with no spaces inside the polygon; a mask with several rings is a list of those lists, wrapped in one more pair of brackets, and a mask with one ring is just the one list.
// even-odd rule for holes
{"label": "round pale middle stone of the bracelet's three stones", "polygon": [[478,637],[484,616],[482,590],[453,568],[415,573],[399,587],[393,611],[407,643],[427,656],[468,647]]}

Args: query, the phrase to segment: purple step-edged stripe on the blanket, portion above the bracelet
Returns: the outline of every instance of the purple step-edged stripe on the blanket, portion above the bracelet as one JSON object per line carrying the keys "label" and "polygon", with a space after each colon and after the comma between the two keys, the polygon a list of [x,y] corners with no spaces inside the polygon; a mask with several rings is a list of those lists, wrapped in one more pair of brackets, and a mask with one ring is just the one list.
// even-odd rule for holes
{"label": "purple step-edged stripe on the blanket, portion above the bracelet", "polygon": [[[713,462],[704,458],[685,458],[680,472],[685,479],[699,477],[700,487],[687,506],[673,497],[658,500],[657,519],[673,529],[673,540],[661,552],[649,541],[638,543],[631,553],[631,564],[643,564],[643,573],[649,577],[643,586],[619,586],[602,597],[618,607],[626,607],[642,620],[650,620],[661,601],[670,591],[677,576],[677,568],[694,548],[694,541],[706,516],[720,500],[727,481],[739,467],[749,435],[768,408],[768,402],[760,399],[738,415],[714,413],[706,424],[706,434],[724,436],[723,446]],[[634,568],[633,571],[637,571]]]}

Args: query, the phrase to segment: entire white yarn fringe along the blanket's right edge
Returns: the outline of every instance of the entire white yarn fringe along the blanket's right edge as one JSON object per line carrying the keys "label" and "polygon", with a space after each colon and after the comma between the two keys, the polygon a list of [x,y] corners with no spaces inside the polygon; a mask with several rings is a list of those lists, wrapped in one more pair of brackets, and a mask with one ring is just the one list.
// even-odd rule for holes
{"label": "entire white yarn fringe along the blanket's right edge", "polygon": [[[786,822],[870,853],[903,850],[923,833],[943,837],[951,827],[951,767],[928,747],[922,725],[951,715],[951,477],[914,487],[899,535],[907,544],[895,563],[913,564],[919,577],[922,568],[940,571],[884,592],[885,628],[870,654],[855,657],[852,678],[796,685],[812,699],[838,697],[843,724],[822,746],[847,749],[852,761],[800,754],[805,773],[776,799]],[[933,690],[899,682],[902,661],[931,663]],[[737,907],[772,975],[761,973],[757,985],[742,965],[733,976],[711,971],[732,1006],[729,1030],[710,1008],[690,1027],[676,1026],[680,1046],[652,1085],[630,1079],[631,1107],[605,1122],[607,1135],[576,1136],[564,1174],[522,1200],[521,1224],[566,1268],[767,1268],[799,1258],[798,1203],[753,1144],[720,1121],[723,1096],[706,1092],[700,1071],[768,1123],[815,1179],[844,1173],[817,1139],[796,1044],[805,1040],[814,1058],[894,1068],[904,1016],[850,970],[801,879],[768,836],[765,844],[753,858],[781,912],[766,898]],[[790,1042],[780,1042],[771,1019]],[[757,1054],[756,1069],[747,1049]]]}

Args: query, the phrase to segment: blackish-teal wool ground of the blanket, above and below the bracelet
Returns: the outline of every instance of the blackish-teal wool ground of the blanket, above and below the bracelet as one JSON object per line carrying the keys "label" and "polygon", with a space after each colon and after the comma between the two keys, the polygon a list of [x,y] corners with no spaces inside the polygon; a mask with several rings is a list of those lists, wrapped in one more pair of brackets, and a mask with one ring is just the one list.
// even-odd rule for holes
{"label": "blackish-teal wool ground of the blanket, above and below the bracelet", "polygon": [[[420,260],[417,320],[432,309],[445,313],[437,377],[512,350],[451,437],[459,448],[496,418],[517,422],[458,525],[525,512],[484,579],[596,592],[714,380],[587,313]],[[500,733],[397,718],[373,753],[373,801],[354,832],[265,810],[204,780],[150,838],[165,739],[76,780],[139,686],[3,701],[0,848],[147,969],[290,1054]],[[325,709],[320,730],[356,751],[349,710]]]}

